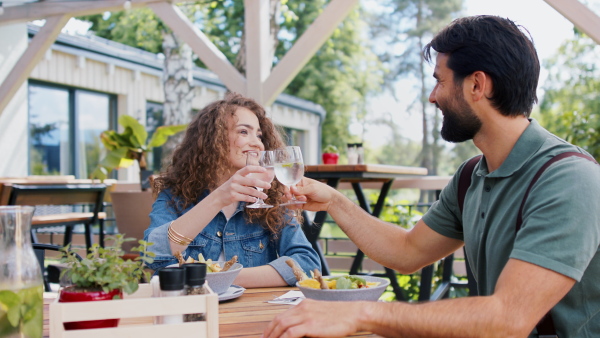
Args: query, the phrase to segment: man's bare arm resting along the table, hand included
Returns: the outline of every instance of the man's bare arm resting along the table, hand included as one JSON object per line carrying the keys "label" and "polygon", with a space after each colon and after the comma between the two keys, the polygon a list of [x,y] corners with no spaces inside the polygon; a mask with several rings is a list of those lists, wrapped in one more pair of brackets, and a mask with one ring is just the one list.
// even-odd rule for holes
{"label": "man's bare arm resting along the table, hand included", "polygon": [[337,337],[357,331],[401,337],[526,337],[575,281],[511,259],[486,297],[436,302],[317,302],[278,315],[264,337]]}

